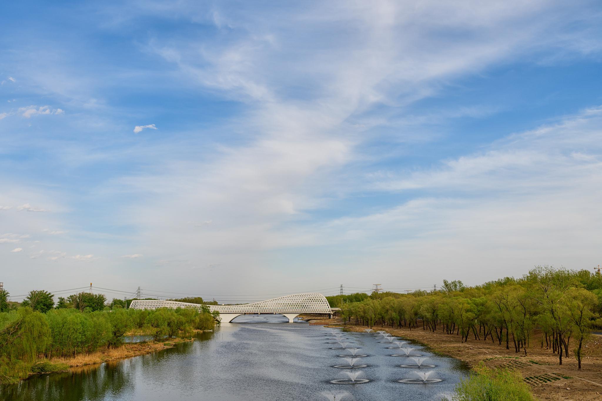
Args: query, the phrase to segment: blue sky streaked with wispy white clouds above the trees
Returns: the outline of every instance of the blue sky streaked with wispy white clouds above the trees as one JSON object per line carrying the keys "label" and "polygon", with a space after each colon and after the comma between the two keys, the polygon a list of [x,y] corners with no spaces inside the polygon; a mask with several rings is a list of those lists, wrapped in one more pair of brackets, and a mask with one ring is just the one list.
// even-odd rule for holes
{"label": "blue sky streaked with wispy white clouds above the trees", "polygon": [[4,10],[13,295],[403,289],[601,262],[598,2]]}

